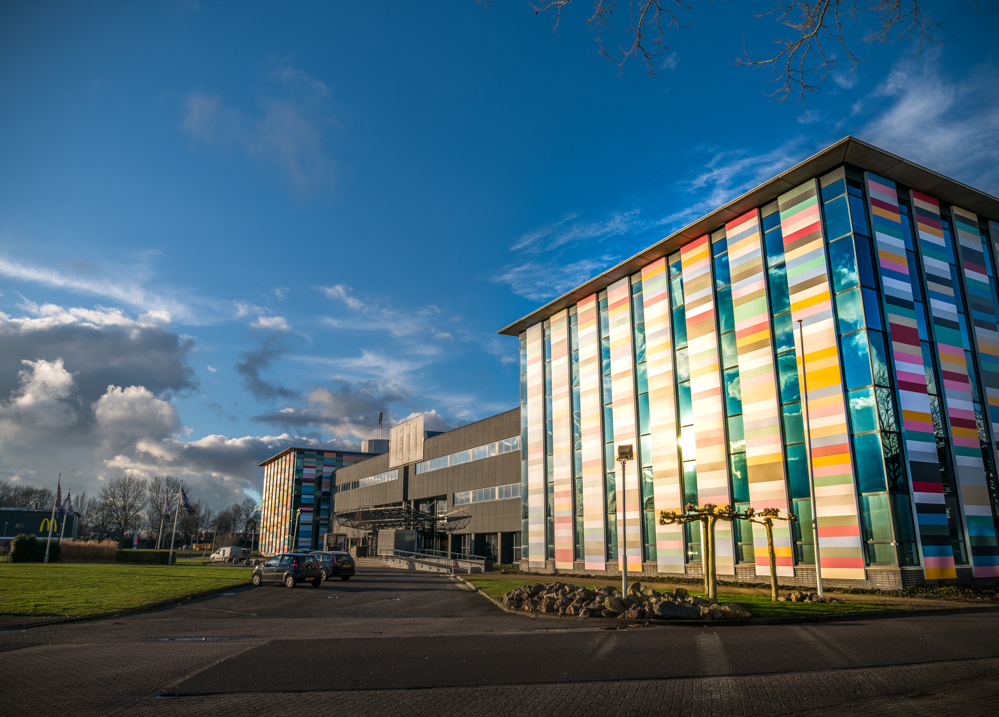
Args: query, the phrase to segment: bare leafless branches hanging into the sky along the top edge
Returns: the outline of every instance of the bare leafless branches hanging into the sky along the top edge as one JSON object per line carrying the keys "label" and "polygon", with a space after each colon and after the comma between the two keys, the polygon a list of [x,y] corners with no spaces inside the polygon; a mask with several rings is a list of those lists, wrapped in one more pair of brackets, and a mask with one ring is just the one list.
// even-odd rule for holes
{"label": "bare leafless branches hanging into the sky along the top edge", "polygon": [[[684,18],[693,3],[681,0],[591,0],[593,11],[586,22],[596,33],[600,54],[622,70],[624,64],[639,58],[645,72],[658,74],[656,58],[666,45],[666,31],[690,27]],[[534,0],[534,14],[554,16],[554,31],[562,22],[562,13],[572,0]],[[818,92],[838,63],[837,49],[846,55],[852,70],[864,58],[851,49],[849,29],[873,16],[879,29],[863,38],[881,43],[890,39],[916,38],[916,56],[924,45],[940,40],[934,34],[941,28],[924,10],[919,0],[775,0],[776,7],[757,13],[755,18],[769,18],[789,31],[786,37],[773,39],[776,52],[753,57],[743,46],[738,65],[762,67],[771,72],[776,89],[770,93],[779,101],[794,97],[802,105],[805,94]],[[978,2],[975,2],[976,9]],[[616,14],[615,14],[616,12]],[[614,47],[610,36],[623,37]]]}

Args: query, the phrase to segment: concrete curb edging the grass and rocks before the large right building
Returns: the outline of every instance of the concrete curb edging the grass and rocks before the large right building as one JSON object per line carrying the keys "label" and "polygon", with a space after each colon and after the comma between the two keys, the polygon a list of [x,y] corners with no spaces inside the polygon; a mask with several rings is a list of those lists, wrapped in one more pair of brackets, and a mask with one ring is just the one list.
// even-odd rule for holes
{"label": "concrete curb edging the grass and rocks before the large right building", "polygon": [[488,595],[471,582],[458,575],[455,579],[465,583],[473,592],[478,592],[487,600],[500,608],[503,612],[511,615],[520,615],[533,619],[544,618],[548,620],[571,620],[586,623],[597,623],[606,625],[617,625],[628,627],[636,623],[642,625],[676,625],[680,627],[739,627],[744,625],[798,625],[806,622],[841,622],[844,620],[881,620],[892,617],[927,617],[930,615],[953,615],[962,613],[988,612],[999,610],[999,605],[971,605],[969,607],[941,607],[927,608],[924,610],[876,610],[872,612],[841,612],[829,615],[803,615],[801,617],[753,617],[748,620],[655,620],[655,619],[634,619],[622,620],[616,617],[573,617],[571,615],[550,615],[544,612],[525,612],[524,610],[511,610],[503,605],[499,600]]}

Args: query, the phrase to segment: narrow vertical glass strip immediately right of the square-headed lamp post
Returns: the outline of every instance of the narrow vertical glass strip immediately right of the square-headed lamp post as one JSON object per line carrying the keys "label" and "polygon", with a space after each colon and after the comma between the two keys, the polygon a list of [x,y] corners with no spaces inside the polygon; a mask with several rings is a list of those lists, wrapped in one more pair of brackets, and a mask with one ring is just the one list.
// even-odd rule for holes
{"label": "narrow vertical glass strip immediately right of the square-headed lamp post", "polygon": [[641,493],[642,559],[655,560],[655,498],[652,495],[652,429],[648,405],[648,368],[645,362],[645,308],[641,274],[631,277],[631,317],[634,346],[634,384],[638,411],[638,490]]}

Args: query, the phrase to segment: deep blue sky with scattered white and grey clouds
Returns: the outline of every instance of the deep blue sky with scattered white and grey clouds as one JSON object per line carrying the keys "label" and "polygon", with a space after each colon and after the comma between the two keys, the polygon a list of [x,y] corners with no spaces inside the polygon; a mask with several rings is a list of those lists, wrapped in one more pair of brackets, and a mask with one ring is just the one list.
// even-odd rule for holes
{"label": "deep blue sky with scattered white and grey clouds", "polygon": [[[801,106],[702,2],[649,77],[524,0],[0,6],[0,478],[218,505],[378,412],[516,403],[496,331],[853,134],[999,194],[999,13],[854,43]],[[873,25],[858,24],[861,38]]]}

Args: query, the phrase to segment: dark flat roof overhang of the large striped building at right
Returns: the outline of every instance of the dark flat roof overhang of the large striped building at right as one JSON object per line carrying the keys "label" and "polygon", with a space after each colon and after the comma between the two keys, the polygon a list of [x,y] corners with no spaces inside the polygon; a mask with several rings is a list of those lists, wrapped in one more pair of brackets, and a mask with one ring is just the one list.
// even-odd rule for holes
{"label": "dark flat roof overhang of the large striped building at right", "polygon": [[678,232],[653,244],[648,249],[634,255],[616,267],[608,269],[603,274],[593,277],[585,284],[563,294],[540,309],[531,312],[522,319],[513,322],[498,334],[515,337],[538,322],[544,321],[552,314],[571,307],[581,299],[603,291],[614,282],[634,274],[655,260],[672,254],[688,242],[692,242],[705,234],[716,231],[732,220],[738,219],[746,212],[772,202],[780,195],[808,180],[825,174],[842,164],[850,164],[860,169],[873,172],[885,179],[905,185],[931,197],[957,205],[961,209],[974,212],[992,220],[999,220],[999,199],[980,190],[961,184],[957,180],[944,177],[942,174],[920,167],[914,162],[902,159],[897,155],[862,142],[855,137],[844,137],[839,142],[825,148],[816,155],[782,172],[771,180],[767,180],[755,189],[751,189],[741,197],[733,199],[723,207],[704,215],[688,224]]}

